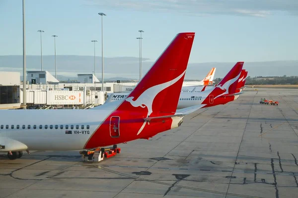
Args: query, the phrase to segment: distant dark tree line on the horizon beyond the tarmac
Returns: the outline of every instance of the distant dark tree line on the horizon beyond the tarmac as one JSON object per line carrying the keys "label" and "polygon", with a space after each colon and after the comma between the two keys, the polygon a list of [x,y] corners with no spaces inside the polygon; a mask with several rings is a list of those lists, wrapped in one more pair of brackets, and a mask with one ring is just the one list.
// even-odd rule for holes
{"label": "distant dark tree line on the horizon beyond the tarmac", "polygon": [[[221,80],[222,78],[216,78],[214,81],[217,84]],[[298,76],[248,76],[245,85],[298,85]]]}

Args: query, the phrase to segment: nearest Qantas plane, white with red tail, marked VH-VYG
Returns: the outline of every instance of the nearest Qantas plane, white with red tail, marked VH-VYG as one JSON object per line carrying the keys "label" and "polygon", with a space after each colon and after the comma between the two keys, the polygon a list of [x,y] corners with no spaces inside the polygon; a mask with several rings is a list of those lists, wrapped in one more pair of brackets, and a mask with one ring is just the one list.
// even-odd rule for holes
{"label": "nearest Qantas plane, white with red tail, marked VH-VYG", "polygon": [[[179,127],[198,107],[177,113],[195,33],[179,33],[125,100],[96,110],[1,110],[0,152],[88,150],[148,139]],[[170,98],[170,100],[168,100]]]}

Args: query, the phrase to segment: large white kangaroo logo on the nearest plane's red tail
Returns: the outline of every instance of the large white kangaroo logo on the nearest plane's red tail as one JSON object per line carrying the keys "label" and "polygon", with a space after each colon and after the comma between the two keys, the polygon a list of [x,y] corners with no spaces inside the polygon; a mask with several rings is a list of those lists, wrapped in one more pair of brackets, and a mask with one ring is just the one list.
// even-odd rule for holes
{"label": "large white kangaroo logo on the nearest plane's red tail", "polygon": [[[186,71],[186,70],[185,70]],[[135,97],[128,97],[127,99],[125,99],[126,101],[130,102],[132,106],[134,107],[142,107],[145,108],[147,107],[148,109],[148,114],[147,117],[152,113],[152,104],[153,104],[153,100],[155,99],[155,97],[157,96],[157,94],[159,92],[161,92],[162,90],[170,87],[171,85],[175,84],[178,80],[180,80],[182,78],[182,76],[185,74],[185,71],[182,72],[182,74],[180,74],[178,77],[176,77],[173,80],[170,80],[168,82],[159,84],[159,85],[155,85],[153,87],[150,87],[149,89],[147,89],[146,91],[144,91],[136,100],[133,100]],[[146,125],[147,121],[144,121],[142,127],[140,128],[139,132],[137,135],[139,135],[142,130],[144,129],[145,125]]]}

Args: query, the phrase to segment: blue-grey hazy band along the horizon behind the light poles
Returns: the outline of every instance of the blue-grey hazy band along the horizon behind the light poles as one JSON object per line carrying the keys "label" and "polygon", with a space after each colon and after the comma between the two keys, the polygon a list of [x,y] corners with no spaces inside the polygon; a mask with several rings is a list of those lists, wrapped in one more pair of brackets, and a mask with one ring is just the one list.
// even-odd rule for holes
{"label": "blue-grey hazy band along the horizon behind the light poles", "polygon": [[[40,56],[27,55],[27,70],[40,70]],[[189,63],[185,79],[202,80],[212,67],[216,67],[216,78],[222,78],[235,62]],[[96,56],[96,76],[101,79],[101,57]],[[143,58],[143,76],[153,64]],[[22,71],[22,55],[0,55],[1,71]],[[54,56],[43,56],[43,68],[55,74]],[[76,79],[76,74],[93,73],[94,56],[57,55],[58,80]],[[293,76],[298,75],[298,60],[245,62],[248,76]],[[120,77],[121,76],[121,77]],[[106,80],[139,79],[139,57],[107,57],[104,58],[104,77]],[[121,79],[122,78],[122,79]]]}

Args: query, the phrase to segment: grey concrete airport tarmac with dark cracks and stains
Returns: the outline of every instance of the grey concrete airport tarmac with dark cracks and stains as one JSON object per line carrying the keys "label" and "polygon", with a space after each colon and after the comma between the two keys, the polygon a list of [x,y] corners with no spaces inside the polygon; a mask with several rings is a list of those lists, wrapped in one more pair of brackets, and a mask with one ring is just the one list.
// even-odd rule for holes
{"label": "grey concrete airport tarmac with dark cracks and stains", "polygon": [[97,163],[77,151],[0,154],[0,198],[297,197],[298,89],[247,88],[176,129],[118,146]]}

